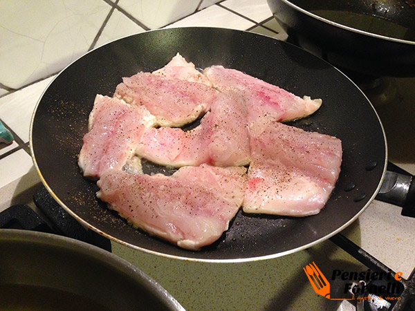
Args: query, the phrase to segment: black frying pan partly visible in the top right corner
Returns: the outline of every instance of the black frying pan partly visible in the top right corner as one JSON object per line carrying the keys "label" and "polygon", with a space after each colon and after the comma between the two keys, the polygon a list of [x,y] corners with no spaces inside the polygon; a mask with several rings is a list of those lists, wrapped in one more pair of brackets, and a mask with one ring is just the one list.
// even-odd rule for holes
{"label": "black frying pan partly visible in the top right corner", "polygon": [[342,70],[415,76],[415,1],[268,0],[288,39]]}

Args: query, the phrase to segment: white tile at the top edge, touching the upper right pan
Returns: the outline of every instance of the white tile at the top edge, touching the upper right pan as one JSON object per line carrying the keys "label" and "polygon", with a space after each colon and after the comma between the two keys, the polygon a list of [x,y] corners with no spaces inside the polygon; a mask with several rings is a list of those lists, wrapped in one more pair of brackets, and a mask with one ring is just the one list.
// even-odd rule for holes
{"label": "white tile at the top edge, touching the upper right pan", "polygon": [[266,0],[226,0],[221,2],[221,5],[257,23],[273,16]]}

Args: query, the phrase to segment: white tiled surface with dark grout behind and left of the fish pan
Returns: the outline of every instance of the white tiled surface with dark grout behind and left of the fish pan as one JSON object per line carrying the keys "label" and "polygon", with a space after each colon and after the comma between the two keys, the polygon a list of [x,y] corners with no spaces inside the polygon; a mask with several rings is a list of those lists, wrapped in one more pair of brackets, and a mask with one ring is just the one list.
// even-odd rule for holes
{"label": "white tiled surface with dark grout behind and left of the fish pan", "polygon": [[[0,143],[0,185],[27,173],[32,165],[28,147],[30,120],[37,101],[53,77],[88,50],[160,27],[212,26],[249,30],[278,39],[285,36],[266,0],[168,3],[0,2],[1,15],[5,17],[0,20],[0,121],[15,137],[12,144]],[[17,163],[19,169],[12,169]]]}

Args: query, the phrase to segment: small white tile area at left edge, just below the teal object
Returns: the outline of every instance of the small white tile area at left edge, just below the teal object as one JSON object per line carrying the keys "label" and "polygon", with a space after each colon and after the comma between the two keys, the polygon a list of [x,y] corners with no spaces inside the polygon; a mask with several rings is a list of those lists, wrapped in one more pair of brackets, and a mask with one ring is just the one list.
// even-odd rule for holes
{"label": "small white tile area at left edge, just below the teal object", "polygon": [[33,160],[20,149],[0,160],[0,188],[34,169]]}

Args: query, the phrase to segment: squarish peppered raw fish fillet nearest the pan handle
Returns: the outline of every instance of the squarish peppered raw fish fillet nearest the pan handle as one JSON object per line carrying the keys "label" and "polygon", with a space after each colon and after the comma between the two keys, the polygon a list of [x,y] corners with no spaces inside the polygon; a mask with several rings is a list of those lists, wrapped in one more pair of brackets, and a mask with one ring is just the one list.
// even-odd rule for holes
{"label": "squarish peppered raw fish fillet nearest the pan handle", "polygon": [[340,173],[338,138],[279,122],[251,127],[251,158],[243,200],[246,213],[318,214]]}

